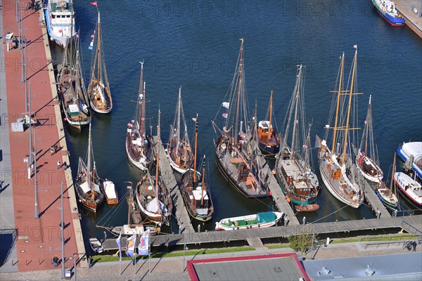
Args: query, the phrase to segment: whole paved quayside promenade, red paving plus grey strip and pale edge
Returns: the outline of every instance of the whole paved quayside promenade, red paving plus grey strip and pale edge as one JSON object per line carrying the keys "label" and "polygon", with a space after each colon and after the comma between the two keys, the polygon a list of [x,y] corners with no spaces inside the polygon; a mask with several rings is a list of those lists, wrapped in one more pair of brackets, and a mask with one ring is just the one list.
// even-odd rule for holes
{"label": "whole paved quayside promenade, red paving plus grey strip and pale edge", "polygon": [[[18,35],[16,1],[1,3],[1,30]],[[40,14],[25,11],[25,1],[20,1],[23,11],[23,32],[27,40],[27,85],[31,84],[32,112],[37,126],[32,129],[33,146],[36,145],[39,218],[34,218],[34,174],[28,179],[27,158],[30,150],[30,130],[12,132],[11,123],[25,112],[25,83],[21,81],[22,61],[18,48],[6,51],[2,44],[1,90],[1,181],[0,228],[15,229],[12,251],[1,261],[0,271],[49,270],[54,255],[61,259],[60,242],[60,182],[64,185],[65,266],[70,268],[74,253],[84,255],[82,231],[70,168],[58,169],[57,162],[69,164],[68,153],[57,101],[49,40]],[[42,11],[40,11],[42,12]],[[42,16],[42,13],[41,13]],[[42,21],[42,20],[41,20]],[[2,34],[3,35],[3,34]],[[3,83],[6,78],[6,83]],[[5,91],[6,89],[6,91]],[[29,91],[28,91],[29,95]],[[29,98],[28,98],[29,99]],[[7,102],[7,104],[6,104]],[[34,131],[36,130],[36,138]],[[5,133],[4,133],[5,132]],[[8,136],[8,139],[7,139]],[[51,155],[52,145],[59,151]],[[1,235],[1,239],[5,236]],[[0,244],[3,244],[3,240]],[[3,250],[3,249],[2,249]],[[77,256],[78,258],[79,256]],[[5,264],[3,265],[3,263]],[[2,279],[2,277],[0,277]]]}

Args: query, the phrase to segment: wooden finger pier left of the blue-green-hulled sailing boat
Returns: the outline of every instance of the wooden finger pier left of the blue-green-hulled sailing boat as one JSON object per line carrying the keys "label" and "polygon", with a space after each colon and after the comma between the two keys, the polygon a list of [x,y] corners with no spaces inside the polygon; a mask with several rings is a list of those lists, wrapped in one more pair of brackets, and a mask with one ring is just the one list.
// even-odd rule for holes
{"label": "wooden finger pier left of the blue-green-hulled sailing boat", "polygon": [[266,178],[268,187],[271,191],[271,196],[273,197],[277,209],[287,215],[289,226],[297,226],[298,224],[300,224],[298,218],[296,218],[292,207],[290,207],[290,204],[287,202],[286,196],[284,196],[283,191],[281,191],[280,185],[279,183],[277,183],[276,177],[272,174],[271,169],[269,168],[268,163],[267,161],[265,161],[263,155],[260,155],[259,161],[262,165],[262,172],[264,173],[264,175],[267,175]]}

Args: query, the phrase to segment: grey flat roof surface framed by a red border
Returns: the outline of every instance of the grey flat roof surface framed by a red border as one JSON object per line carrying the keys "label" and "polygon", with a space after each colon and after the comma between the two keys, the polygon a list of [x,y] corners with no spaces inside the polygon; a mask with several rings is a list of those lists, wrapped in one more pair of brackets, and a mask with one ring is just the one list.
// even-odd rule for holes
{"label": "grey flat roof surface framed by a red border", "polygon": [[291,257],[194,263],[199,280],[300,280],[302,273]]}

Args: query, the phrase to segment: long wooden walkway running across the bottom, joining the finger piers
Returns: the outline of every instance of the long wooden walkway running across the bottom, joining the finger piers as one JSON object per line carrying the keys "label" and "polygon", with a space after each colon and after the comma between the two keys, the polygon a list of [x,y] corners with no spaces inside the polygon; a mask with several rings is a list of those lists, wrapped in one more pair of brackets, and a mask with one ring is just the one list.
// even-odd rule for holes
{"label": "long wooden walkway running across the bottom, joining the finger piers", "polygon": [[[151,247],[168,247],[183,244],[212,244],[231,241],[247,241],[255,237],[269,239],[277,237],[289,237],[301,233],[326,235],[338,237],[339,233],[352,233],[362,230],[387,230],[404,228],[405,225],[414,229],[422,229],[422,215],[406,217],[371,218],[355,221],[334,221],[328,223],[308,223],[306,225],[273,226],[271,228],[252,228],[246,230],[208,231],[203,233],[182,233],[172,235],[154,235],[150,237]],[[406,230],[406,229],[405,229]],[[139,238],[138,238],[139,240]],[[126,238],[122,237],[122,245],[126,244]],[[138,244],[138,242],[136,242]],[[103,242],[105,250],[117,250],[115,239]]]}

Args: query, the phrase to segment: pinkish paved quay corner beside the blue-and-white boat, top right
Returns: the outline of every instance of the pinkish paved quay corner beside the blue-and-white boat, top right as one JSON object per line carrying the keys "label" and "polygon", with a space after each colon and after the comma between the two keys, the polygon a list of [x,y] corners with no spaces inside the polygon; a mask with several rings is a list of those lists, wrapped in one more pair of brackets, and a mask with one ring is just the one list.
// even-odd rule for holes
{"label": "pinkish paved quay corner beside the blue-and-white boat, top right", "polygon": [[420,0],[395,0],[397,11],[402,13],[406,25],[422,38],[422,3]]}

